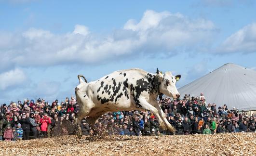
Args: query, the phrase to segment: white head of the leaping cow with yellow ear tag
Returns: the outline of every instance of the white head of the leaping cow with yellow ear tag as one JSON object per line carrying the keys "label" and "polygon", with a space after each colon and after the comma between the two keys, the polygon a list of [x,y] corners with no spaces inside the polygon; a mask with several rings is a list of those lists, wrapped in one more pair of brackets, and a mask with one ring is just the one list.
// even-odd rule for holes
{"label": "white head of the leaping cow with yellow ear tag", "polygon": [[165,94],[166,96],[172,97],[174,99],[180,96],[175,84],[180,79],[180,75],[173,76],[171,72],[165,72],[162,74],[157,69],[157,77],[161,83],[159,86],[159,91]]}

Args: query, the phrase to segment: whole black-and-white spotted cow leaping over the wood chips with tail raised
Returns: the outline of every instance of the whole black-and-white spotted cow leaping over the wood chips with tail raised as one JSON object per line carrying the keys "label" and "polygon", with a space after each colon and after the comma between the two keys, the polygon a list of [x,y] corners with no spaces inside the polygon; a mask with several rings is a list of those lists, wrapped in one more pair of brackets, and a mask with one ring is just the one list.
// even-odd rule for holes
{"label": "whole black-and-white spotted cow leaping over the wood chips with tail raised", "polygon": [[160,93],[179,97],[175,83],[180,77],[172,76],[171,72],[162,74],[158,69],[157,74],[152,74],[137,68],[115,71],[89,83],[78,75],[80,84],[75,89],[80,106],[78,120],[89,116],[90,124],[94,124],[106,112],[149,110],[157,116],[163,130],[167,126],[170,131],[175,131],[159,106],[157,97]]}

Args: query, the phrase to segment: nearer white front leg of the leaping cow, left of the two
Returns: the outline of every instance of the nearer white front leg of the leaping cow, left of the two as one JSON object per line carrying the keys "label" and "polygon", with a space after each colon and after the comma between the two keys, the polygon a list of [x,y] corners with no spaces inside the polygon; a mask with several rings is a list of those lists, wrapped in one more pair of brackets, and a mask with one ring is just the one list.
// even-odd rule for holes
{"label": "nearer white front leg of the leaping cow, left of the two", "polygon": [[143,109],[149,110],[151,113],[153,113],[158,118],[161,128],[162,128],[162,126],[165,126],[163,123],[162,117],[159,115],[159,111],[157,110],[156,107],[149,104],[144,98],[140,98],[139,102]]}

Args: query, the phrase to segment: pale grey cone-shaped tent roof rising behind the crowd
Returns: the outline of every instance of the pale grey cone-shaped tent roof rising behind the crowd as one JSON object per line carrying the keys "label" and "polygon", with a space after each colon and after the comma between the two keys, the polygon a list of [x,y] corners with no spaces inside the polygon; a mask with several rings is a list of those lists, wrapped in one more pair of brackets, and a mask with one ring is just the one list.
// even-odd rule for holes
{"label": "pale grey cone-shaped tent roof rising behind the crowd", "polygon": [[203,92],[206,103],[240,110],[256,109],[256,71],[235,64],[225,64],[209,74],[178,89],[185,94],[200,96]]}

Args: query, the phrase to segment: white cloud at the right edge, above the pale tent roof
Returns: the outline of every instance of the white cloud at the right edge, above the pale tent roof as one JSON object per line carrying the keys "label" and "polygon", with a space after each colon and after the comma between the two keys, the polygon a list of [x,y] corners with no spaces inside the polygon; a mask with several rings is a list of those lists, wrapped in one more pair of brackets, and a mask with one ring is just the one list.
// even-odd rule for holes
{"label": "white cloud at the right edge, above the pale tent roof", "polygon": [[244,26],[229,36],[218,47],[217,52],[256,52],[256,23]]}

